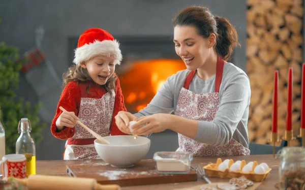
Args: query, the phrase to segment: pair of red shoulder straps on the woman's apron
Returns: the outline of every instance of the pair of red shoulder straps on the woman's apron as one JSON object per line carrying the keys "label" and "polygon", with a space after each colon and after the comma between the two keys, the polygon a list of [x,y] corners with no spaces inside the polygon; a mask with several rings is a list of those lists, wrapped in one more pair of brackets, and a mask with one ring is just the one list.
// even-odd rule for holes
{"label": "pair of red shoulder straps on the woman's apron", "polygon": [[[223,77],[223,70],[224,70],[224,60],[217,56],[217,64],[216,64],[216,77],[215,77],[215,92],[219,92],[220,84]],[[189,89],[191,81],[196,73],[196,70],[191,71],[184,83],[184,88]]]}

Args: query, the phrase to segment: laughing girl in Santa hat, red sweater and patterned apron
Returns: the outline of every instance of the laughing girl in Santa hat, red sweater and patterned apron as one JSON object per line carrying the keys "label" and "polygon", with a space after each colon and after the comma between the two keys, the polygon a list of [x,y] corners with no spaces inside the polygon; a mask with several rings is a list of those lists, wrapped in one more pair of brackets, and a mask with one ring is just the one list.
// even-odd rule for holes
{"label": "laughing girl in Santa hat, red sweater and patterned apron", "polygon": [[65,88],[51,124],[54,137],[68,139],[64,160],[99,158],[94,136],[76,124],[78,119],[101,136],[125,135],[114,120],[119,111],[126,111],[114,74],[121,59],[119,44],[107,31],[90,28],[79,37],[75,66],[64,75]]}

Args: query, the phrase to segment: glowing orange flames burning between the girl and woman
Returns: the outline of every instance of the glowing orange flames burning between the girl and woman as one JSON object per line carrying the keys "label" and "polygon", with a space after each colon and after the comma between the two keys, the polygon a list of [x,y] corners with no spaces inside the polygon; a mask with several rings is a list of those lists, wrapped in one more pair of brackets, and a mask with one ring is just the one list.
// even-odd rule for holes
{"label": "glowing orange flames burning between the girl and woman", "polygon": [[134,62],[128,72],[120,75],[127,110],[138,112],[146,107],[166,79],[184,69],[186,69],[184,62],[176,59]]}

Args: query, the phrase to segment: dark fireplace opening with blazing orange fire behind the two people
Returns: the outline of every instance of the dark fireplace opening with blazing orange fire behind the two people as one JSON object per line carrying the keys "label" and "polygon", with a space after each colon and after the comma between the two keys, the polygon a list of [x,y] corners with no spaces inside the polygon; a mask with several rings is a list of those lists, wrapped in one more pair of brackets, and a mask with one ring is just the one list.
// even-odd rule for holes
{"label": "dark fireplace opening with blazing orange fire behind the two people", "polygon": [[[116,68],[127,110],[146,107],[166,79],[186,69],[176,55],[172,37],[119,37],[123,54]],[[69,62],[72,64],[78,38],[69,38]]]}

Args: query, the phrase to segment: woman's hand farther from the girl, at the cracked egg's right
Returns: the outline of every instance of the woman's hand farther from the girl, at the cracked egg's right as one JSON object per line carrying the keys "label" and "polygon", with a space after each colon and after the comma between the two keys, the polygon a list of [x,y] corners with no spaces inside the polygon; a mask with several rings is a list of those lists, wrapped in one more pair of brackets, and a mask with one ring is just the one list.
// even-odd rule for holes
{"label": "woman's hand farther from the girl, at the cracked egg's right", "polygon": [[149,116],[140,117],[136,120],[137,123],[132,125],[133,134],[148,135],[150,133],[163,132],[169,128],[171,120],[170,117],[170,114],[165,113],[157,113]]}

